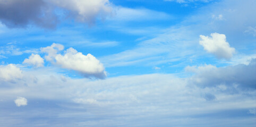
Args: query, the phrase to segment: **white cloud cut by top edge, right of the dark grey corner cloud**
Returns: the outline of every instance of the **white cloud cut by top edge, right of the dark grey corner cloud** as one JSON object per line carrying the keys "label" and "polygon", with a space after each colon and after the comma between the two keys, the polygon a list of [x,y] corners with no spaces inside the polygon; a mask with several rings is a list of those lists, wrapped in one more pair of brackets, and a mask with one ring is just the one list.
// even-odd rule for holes
{"label": "white cloud cut by top edge, right of the dark grey corner cloud", "polygon": [[105,19],[112,13],[112,7],[108,0],[46,0],[56,6],[70,11],[76,20],[80,22],[94,23],[97,16]]}

